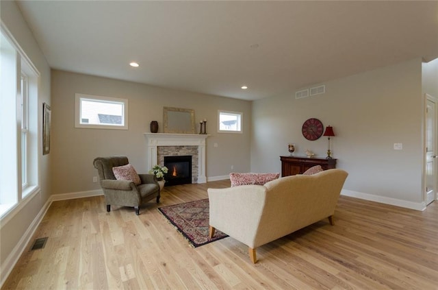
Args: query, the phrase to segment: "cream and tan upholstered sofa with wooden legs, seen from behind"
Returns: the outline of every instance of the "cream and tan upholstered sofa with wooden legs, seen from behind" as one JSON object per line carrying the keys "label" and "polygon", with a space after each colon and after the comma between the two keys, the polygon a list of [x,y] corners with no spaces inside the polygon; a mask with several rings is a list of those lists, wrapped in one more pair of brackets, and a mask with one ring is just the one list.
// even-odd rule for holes
{"label": "cream and tan upholstered sofa with wooden legs, seen from behind", "polygon": [[312,176],[287,176],[263,185],[208,189],[210,237],[216,229],[255,249],[333,215],[348,173],[329,169]]}

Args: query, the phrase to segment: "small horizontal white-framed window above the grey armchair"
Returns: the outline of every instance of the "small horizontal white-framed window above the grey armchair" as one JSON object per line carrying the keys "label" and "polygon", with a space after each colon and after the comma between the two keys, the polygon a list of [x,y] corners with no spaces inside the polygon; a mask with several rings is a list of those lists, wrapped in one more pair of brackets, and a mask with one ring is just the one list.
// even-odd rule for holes
{"label": "small horizontal white-framed window above the grey armchair", "polygon": [[128,129],[128,100],[76,94],[75,127]]}

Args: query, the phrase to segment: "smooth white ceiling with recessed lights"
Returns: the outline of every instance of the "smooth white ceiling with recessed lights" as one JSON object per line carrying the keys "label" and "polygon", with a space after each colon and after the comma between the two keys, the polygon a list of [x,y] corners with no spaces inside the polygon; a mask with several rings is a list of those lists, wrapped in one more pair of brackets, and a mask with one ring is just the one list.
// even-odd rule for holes
{"label": "smooth white ceiling with recessed lights", "polygon": [[438,1],[17,3],[53,69],[237,99],[438,58]]}

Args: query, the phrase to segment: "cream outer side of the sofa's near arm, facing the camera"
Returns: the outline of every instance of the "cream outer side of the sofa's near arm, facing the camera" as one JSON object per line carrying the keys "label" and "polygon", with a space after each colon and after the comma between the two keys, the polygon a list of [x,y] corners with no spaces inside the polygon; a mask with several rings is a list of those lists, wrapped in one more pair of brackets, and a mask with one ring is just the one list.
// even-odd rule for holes
{"label": "cream outer side of the sofa's near arm, facing the camera", "polygon": [[266,188],[242,185],[227,189],[208,189],[209,224],[255,247],[255,237],[266,201]]}

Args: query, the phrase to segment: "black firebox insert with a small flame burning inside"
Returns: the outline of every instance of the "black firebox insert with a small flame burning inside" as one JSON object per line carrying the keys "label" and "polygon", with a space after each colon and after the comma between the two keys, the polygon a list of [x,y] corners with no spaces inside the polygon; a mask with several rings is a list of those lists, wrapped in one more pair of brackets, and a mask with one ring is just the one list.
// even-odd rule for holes
{"label": "black firebox insert with a small flame burning inside", "polygon": [[164,156],[166,186],[192,183],[192,156]]}

